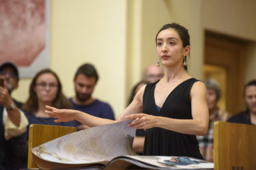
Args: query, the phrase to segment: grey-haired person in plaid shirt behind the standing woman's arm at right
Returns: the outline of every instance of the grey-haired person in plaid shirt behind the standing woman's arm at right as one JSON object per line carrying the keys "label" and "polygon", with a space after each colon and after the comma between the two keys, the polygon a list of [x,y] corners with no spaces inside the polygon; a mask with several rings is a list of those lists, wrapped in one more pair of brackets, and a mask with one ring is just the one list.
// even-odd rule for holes
{"label": "grey-haired person in plaid shirt behind the standing woman's arm at right", "polygon": [[229,114],[218,107],[221,99],[221,86],[214,79],[203,80],[207,88],[207,104],[209,109],[209,126],[205,136],[197,136],[200,152],[205,160],[214,160],[214,122],[227,121]]}

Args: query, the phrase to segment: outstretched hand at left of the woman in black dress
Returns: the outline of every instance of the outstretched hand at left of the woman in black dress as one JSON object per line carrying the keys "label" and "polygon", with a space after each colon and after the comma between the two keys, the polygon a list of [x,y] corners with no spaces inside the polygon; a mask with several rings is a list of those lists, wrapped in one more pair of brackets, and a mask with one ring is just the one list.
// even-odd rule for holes
{"label": "outstretched hand at left of the woman in black dress", "polygon": [[72,109],[57,109],[55,107],[45,106],[45,113],[52,118],[57,118],[55,122],[69,122],[74,120],[74,110]]}

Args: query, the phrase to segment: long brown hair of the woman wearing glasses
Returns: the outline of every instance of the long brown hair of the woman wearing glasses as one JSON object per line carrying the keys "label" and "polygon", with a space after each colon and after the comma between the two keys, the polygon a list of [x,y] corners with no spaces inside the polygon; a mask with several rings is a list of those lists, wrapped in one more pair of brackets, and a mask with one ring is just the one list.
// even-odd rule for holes
{"label": "long brown hair of the woman wearing glasses", "polygon": [[31,114],[35,114],[35,112],[38,111],[38,96],[36,95],[33,88],[35,87],[36,81],[38,80],[40,75],[43,75],[45,73],[50,73],[50,74],[54,75],[58,82],[58,91],[57,91],[56,98],[53,100],[52,106],[57,107],[59,109],[72,108],[70,101],[68,101],[68,99],[62,93],[61,82],[59,81],[57,74],[55,72],[51,71],[51,69],[43,69],[35,75],[35,77],[33,78],[32,82],[29,86],[29,99],[27,99],[26,103],[24,103],[22,108]]}

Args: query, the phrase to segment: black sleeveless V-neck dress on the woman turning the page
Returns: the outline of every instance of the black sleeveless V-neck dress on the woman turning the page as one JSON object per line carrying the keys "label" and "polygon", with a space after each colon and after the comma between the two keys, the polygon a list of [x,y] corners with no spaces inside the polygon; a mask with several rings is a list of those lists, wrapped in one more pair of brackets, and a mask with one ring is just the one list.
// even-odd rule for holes
{"label": "black sleeveless V-neck dress on the woman turning the page", "polygon": [[[156,108],[154,99],[154,90],[158,82],[147,84],[143,94],[143,113],[175,119],[192,119],[190,89],[197,81],[195,78],[190,78],[174,88],[163,103],[160,112]],[[143,155],[190,156],[203,159],[195,135],[186,135],[161,128],[146,130]]]}

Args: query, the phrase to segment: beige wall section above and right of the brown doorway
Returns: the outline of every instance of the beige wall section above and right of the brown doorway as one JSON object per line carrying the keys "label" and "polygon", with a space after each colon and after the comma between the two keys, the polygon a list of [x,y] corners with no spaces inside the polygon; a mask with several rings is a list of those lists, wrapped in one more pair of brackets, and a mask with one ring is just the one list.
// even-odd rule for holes
{"label": "beige wall section above and right of the brown doorway", "polygon": [[202,1],[203,29],[248,41],[244,82],[256,79],[255,7],[255,0]]}

